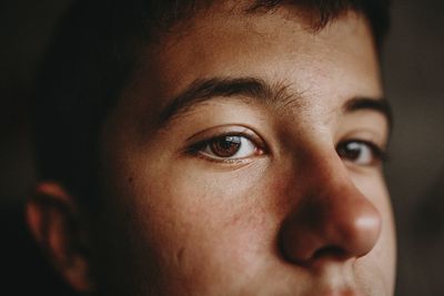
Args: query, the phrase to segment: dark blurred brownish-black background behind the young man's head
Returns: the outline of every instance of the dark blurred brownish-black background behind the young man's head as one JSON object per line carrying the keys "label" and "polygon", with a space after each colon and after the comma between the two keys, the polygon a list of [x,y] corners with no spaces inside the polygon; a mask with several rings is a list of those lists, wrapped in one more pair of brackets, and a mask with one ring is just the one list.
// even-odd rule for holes
{"label": "dark blurred brownish-black background behind the young man's head", "polygon": [[[33,78],[70,2],[0,1],[2,295],[70,295],[29,237],[22,205],[34,182]],[[444,295],[444,1],[395,0],[392,12],[383,63],[395,115],[386,176],[398,232],[396,295]]]}

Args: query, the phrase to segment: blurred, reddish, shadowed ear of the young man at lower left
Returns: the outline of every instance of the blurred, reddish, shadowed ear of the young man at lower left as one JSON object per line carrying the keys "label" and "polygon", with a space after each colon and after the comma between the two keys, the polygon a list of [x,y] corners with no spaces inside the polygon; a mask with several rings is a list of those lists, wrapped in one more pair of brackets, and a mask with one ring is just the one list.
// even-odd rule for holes
{"label": "blurred, reddish, shadowed ear of the young man at lower left", "polygon": [[87,236],[71,196],[57,183],[41,183],[26,205],[26,215],[32,235],[61,276],[77,292],[91,292]]}

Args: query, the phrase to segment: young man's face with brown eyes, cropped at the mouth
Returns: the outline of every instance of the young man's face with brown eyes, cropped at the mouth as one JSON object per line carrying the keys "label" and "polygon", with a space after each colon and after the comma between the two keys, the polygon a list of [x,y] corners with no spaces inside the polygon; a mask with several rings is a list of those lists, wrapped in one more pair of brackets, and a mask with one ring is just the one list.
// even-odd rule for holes
{"label": "young man's face with brown eyes, cropped at the mouth", "polygon": [[371,31],[306,20],[212,10],[147,51],[103,125],[104,295],[393,294]]}

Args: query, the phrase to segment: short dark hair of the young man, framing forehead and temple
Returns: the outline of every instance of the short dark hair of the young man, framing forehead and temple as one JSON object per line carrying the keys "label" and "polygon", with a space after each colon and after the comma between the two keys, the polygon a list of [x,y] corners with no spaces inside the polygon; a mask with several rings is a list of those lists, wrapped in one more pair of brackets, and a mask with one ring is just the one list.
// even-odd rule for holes
{"label": "short dark hair of the young man, framing forehead and temple", "polygon": [[[222,1],[222,0],[220,0]],[[208,0],[79,0],[58,25],[43,59],[33,109],[40,180],[62,183],[93,202],[99,134],[143,47],[179,21],[209,8]],[[300,6],[313,29],[347,10],[363,13],[377,48],[389,28],[389,0],[251,0],[245,13]]]}

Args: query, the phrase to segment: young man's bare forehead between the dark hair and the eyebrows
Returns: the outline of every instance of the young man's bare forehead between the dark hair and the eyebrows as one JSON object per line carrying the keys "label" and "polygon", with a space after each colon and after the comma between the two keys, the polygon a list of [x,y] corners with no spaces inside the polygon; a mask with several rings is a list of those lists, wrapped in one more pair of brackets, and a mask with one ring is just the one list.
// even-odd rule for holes
{"label": "young man's bare forehead between the dark hair and the eyebrows", "polygon": [[294,7],[250,14],[215,7],[172,28],[141,65],[132,86],[151,110],[213,78],[258,78],[324,109],[354,96],[382,96],[370,27],[353,11],[314,31],[310,14]]}

